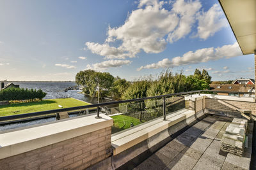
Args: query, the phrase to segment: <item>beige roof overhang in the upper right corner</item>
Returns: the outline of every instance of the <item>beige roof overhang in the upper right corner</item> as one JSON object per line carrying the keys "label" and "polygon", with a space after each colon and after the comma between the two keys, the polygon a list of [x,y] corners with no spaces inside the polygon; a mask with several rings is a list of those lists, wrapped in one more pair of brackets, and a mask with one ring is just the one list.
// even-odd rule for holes
{"label": "beige roof overhang in the upper right corner", "polygon": [[256,1],[219,0],[243,54],[256,50]]}

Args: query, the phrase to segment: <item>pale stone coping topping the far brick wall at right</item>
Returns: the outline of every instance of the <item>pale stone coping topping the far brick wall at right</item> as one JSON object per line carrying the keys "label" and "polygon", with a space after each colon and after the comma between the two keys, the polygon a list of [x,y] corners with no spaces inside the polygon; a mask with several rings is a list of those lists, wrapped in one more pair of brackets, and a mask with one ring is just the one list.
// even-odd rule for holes
{"label": "pale stone coping topping the far brick wall at right", "polygon": [[196,99],[200,99],[200,97],[208,97],[210,99],[222,99],[228,101],[244,101],[244,102],[253,102],[255,103],[255,99],[253,97],[237,97],[237,96],[225,96],[225,95],[213,95],[213,94],[193,94],[192,97],[185,96],[185,100],[195,101]]}

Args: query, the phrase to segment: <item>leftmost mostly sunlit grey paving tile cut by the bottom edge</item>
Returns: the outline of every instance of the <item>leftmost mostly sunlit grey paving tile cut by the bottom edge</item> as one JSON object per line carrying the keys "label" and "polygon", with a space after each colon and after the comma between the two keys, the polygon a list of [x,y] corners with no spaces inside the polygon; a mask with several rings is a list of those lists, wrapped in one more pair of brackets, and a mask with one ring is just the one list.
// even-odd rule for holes
{"label": "leftmost mostly sunlit grey paving tile cut by the bottom edge", "polygon": [[192,169],[195,164],[196,164],[197,160],[193,159],[192,157],[189,157],[188,155],[184,155],[183,153],[179,153],[179,155],[177,155],[177,157],[175,157],[175,159],[172,160],[172,162],[170,162],[166,167],[166,169]]}

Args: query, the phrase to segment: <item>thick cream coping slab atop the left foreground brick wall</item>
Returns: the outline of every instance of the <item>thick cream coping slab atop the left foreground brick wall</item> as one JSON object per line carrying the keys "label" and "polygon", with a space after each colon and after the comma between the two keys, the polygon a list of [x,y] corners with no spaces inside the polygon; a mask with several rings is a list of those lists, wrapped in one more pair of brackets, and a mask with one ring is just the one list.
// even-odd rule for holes
{"label": "thick cream coping slab atop the left foreground brick wall", "polygon": [[102,118],[95,118],[95,115],[90,115],[68,118],[65,121],[52,124],[2,133],[0,134],[0,159],[52,145],[113,125],[112,118],[104,114],[100,114],[100,117]]}

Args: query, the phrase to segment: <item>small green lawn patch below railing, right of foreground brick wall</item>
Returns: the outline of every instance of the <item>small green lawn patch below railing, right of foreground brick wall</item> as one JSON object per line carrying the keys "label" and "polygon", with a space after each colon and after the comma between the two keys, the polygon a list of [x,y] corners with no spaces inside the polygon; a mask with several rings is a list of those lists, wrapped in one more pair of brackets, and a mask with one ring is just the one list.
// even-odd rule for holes
{"label": "small green lawn patch below railing, right of foreground brick wall", "polygon": [[112,126],[112,134],[123,131],[124,129],[128,129],[131,127],[131,122],[134,125],[141,124],[138,118],[129,117],[127,115],[116,115],[111,117],[114,120],[114,125]]}

